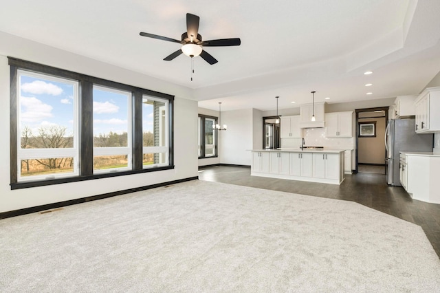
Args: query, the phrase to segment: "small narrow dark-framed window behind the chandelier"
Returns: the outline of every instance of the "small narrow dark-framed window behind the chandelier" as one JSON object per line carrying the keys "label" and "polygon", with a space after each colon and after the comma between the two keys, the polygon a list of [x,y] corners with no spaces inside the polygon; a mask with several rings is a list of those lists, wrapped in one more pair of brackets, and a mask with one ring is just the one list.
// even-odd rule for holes
{"label": "small narrow dark-framed window behind the chandelier", "polygon": [[217,117],[199,115],[199,158],[217,157]]}

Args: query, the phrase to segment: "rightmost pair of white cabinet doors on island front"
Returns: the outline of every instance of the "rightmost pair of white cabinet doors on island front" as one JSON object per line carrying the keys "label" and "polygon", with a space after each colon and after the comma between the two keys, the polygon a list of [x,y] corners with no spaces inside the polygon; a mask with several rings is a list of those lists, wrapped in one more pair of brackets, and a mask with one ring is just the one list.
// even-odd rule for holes
{"label": "rightmost pair of white cabinet doors on island front", "polygon": [[313,177],[338,179],[340,176],[340,158],[337,153],[313,154]]}

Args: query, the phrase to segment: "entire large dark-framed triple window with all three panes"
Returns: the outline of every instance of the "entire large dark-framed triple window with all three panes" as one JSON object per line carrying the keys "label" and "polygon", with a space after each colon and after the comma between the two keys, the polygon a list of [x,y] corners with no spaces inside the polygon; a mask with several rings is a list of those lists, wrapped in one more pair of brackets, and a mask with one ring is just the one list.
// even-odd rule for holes
{"label": "entire large dark-framed triple window with all three panes", "polygon": [[174,168],[173,96],[15,58],[9,65],[12,189]]}

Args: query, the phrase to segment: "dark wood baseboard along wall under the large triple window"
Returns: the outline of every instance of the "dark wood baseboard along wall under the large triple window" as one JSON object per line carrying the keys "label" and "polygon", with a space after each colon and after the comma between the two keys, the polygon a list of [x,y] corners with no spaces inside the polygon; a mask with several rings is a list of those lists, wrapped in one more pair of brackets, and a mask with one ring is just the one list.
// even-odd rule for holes
{"label": "dark wood baseboard along wall under the large triple window", "polygon": [[71,199],[71,200],[67,200],[65,202],[54,202],[53,204],[43,204],[42,206],[32,206],[30,208],[21,208],[19,210],[10,210],[8,212],[0,213],[0,219],[41,212],[43,210],[51,210],[52,208],[61,208],[63,206],[72,206],[73,204],[82,204],[84,202],[91,202],[92,200],[104,199],[104,198],[113,197],[113,196],[117,196],[117,195],[124,195],[127,193],[135,193],[137,191],[146,191],[147,189],[151,189],[151,188],[157,188],[157,187],[167,186],[170,184],[177,184],[177,183],[182,183],[182,182],[187,182],[187,181],[192,181],[192,180],[199,180],[199,177],[198,176],[188,177],[188,178],[183,178],[183,179],[179,179],[179,180],[173,180],[173,181],[168,181],[168,182],[163,182],[163,183],[158,183],[158,184],[152,184],[152,185],[146,185],[146,186],[141,186],[141,187],[136,187],[136,188],[125,189],[123,191],[114,191],[112,193],[104,193],[102,195],[92,195],[89,197]]}

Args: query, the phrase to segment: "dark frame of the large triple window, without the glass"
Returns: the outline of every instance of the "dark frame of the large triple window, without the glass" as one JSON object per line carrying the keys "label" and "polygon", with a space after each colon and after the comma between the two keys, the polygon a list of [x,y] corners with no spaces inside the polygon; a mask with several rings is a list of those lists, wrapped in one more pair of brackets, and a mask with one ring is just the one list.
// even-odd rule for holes
{"label": "dark frame of the large triple window, without the glass", "polygon": [[[163,171],[174,169],[174,96],[169,94],[143,89],[132,85],[117,83],[115,81],[88,76],[76,72],[70,72],[65,69],[50,67],[30,61],[12,58],[8,56],[10,65],[10,186],[11,189],[30,188],[35,186],[47,186],[52,184],[63,184],[68,182],[79,182],[84,180],[94,180],[105,177],[116,177],[121,175],[132,175],[137,173],[148,173],[152,171]],[[77,80],[78,90],[78,150],[79,150],[79,175],[69,177],[50,178],[46,180],[19,181],[18,179],[18,156],[17,147],[19,146],[19,133],[17,128],[17,71],[22,69],[25,72],[53,76],[54,78],[63,78]],[[131,92],[131,170],[116,171],[110,173],[94,174],[93,168],[93,86],[109,87],[121,91]],[[166,166],[157,166],[151,169],[142,168],[142,96],[152,96],[159,99],[168,100],[168,164]]]}

